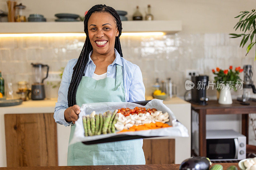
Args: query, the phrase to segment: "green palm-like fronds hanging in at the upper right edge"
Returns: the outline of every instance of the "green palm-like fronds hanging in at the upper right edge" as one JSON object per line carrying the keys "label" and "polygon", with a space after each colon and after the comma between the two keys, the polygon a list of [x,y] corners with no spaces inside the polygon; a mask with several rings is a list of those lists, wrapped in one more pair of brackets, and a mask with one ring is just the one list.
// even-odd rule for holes
{"label": "green palm-like fronds hanging in at the upper right edge", "polygon": [[[247,46],[246,48],[246,54],[245,56],[249,53],[249,51],[252,49],[252,47],[256,43],[256,12],[255,9],[253,9],[251,12],[249,11],[241,11],[241,14],[236,16],[235,18],[240,17],[239,22],[236,23],[234,26],[234,29],[237,30],[240,28],[240,31],[243,31],[244,33],[242,34],[229,34],[232,35],[233,37],[230,38],[237,38],[237,37],[243,37],[240,43],[240,47],[244,47],[245,43],[249,40],[251,40],[251,43]],[[253,41],[253,38],[255,36],[255,40]],[[255,52],[255,58],[254,61],[256,60],[256,52]]]}

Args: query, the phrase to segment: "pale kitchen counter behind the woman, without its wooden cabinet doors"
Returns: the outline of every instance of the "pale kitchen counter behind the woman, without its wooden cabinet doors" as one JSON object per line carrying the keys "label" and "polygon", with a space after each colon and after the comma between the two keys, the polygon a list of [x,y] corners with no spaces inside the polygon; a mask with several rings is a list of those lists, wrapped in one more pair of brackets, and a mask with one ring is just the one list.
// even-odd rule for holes
{"label": "pale kitchen counter behind the woman, without its wooden cabinet doors", "polygon": [[[0,121],[4,122],[4,114],[24,114],[24,113],[53,113],[57,99],[25,101],[17,106],[0,107]],[[191,104],[178,98],[173,97],[164,101],[175,114],[176,118],[188,128],[190,136],[190,109]],[[69,140],[70,127],[57,124],[58,139],[58,160],[59,166],[67,165],[67,148]],[[6,167],[6,148],[5,148],[5,127],[4,123],[0,125],[0,167]],[[146,140],[146,139],[145,139]],[[181,163],[182,160],[190,157],[190,137],[175,138],[175,163]]]}

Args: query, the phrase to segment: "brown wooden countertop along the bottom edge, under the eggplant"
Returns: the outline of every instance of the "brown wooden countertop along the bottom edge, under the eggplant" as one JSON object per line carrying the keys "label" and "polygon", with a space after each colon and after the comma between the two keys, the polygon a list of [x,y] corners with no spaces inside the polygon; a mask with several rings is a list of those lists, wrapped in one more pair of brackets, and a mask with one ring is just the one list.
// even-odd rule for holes
{"label": "brown wooden countertop along the bottom edge, under the eggplant", "polygon": [[[213,164],[215,165],[215,164]],[[235,165],[238,169],[238,163],[224,163],[220,164],[223,166],[223,169],[227,169],[231,165]],[[22,170],[66,170],[66,169],[111,169],[111,170],[119,170],[119,169],[131,169],[131,170],[144,170],[144,169],[179,169],[180,164],[164,164],[164,165],[104,165],[104,166],[38,166],[38,167],[13,167],[8,168],[4,167],[1,168],[1,170],[16,170],[16,169],[22,169]]]}

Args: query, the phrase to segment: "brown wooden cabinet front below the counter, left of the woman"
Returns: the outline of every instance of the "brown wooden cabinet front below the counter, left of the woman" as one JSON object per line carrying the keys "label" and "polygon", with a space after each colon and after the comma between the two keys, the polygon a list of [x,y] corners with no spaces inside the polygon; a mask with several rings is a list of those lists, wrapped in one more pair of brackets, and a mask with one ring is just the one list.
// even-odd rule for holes
{"label": "brown wooden cabinet front below the counter, left of the woman", "polygon": [[58,166],[53,113],[5,114],[7,167]]}

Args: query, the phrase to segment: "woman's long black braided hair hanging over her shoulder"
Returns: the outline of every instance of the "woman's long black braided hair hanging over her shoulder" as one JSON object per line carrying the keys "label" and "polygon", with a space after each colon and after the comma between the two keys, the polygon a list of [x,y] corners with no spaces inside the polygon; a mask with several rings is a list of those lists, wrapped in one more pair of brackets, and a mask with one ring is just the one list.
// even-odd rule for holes
{"label": "woman's long black braided hair hanging over her shoulder", "polygon": [[119,36],[122,33],[122,23],[119,15],[117,14],[116,10],[110,6],[102,5],[102,4],[94,5],[87,12],[84,18],[84,32],[86,34],[86,39],[84,42],[83,49],[80,53],[80,56],[76,62],[76,65],[73,68],[74,71],[73,71],[72,79],[68,88],[68,107],[76,104],[76,90],[80,81],[82,80],[84,70],[86,68],[86,64],[89,60],[89,53],[92,51],[92,44],[90,42],[89,35],[88,35],[88,20],[91,17],[93,12],[108,12],[115,18],[116,26],[119,31],[119,35],[116,37],[116,40],[115,40],[115,48],[117,52],[120,54],[120,56],[123,57],[120,39],[119,39]]}

